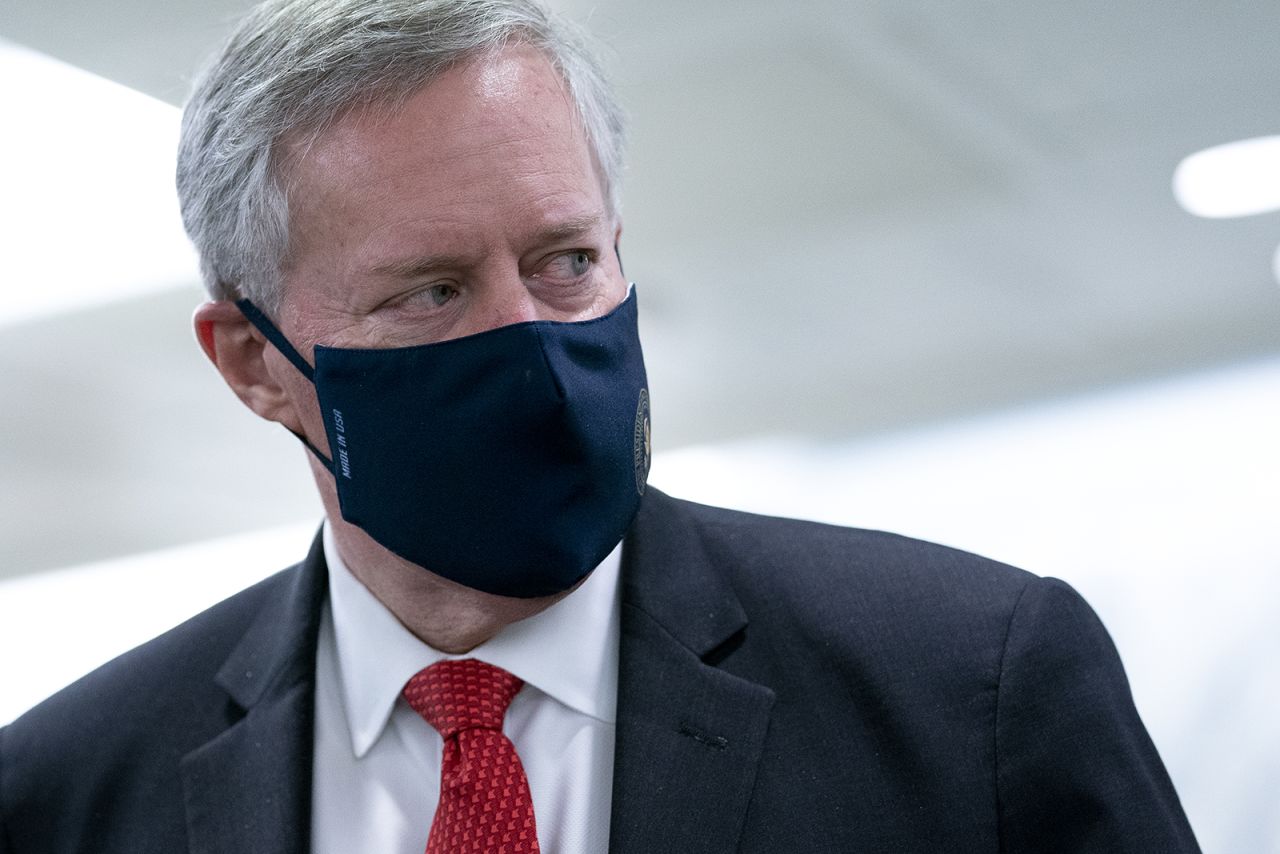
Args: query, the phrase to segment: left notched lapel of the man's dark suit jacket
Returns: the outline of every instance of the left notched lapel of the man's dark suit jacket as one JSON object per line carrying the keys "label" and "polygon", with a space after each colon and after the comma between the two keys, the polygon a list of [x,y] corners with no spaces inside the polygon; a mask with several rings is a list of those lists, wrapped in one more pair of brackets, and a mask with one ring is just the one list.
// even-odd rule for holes
{"label": "left notched lapel of the man's dark suit jacket", "polygon": [[219,671],[243,717],[183,757],[192,854],[310,849],[315,649],[326,590],[317,536],[287,594],[261,611]]}

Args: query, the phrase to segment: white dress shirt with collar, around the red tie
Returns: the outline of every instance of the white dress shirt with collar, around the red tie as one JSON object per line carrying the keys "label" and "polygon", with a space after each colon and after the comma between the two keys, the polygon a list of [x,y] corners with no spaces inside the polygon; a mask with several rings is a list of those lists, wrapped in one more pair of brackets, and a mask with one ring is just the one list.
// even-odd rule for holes
{"label": "white dress shirt with collar, around the red tie", "polygon": [[356,580],[324,528],[329,602],[316,652],[315,854],[422,854],[442,740],[401,698],[410,676],[479,658],[525,680],[503,732],[516,745],[545,854],[605,851],[618,686],[621,545],[564,599],[465,656],[419,640]]}

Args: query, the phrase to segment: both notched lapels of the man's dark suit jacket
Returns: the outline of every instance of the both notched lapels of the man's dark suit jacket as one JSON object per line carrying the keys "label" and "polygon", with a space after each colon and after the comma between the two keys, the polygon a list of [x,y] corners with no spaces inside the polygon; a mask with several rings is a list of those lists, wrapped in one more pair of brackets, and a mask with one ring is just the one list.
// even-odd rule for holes
{"label": "both notched lapels of the man's dark suit jacket", "polygon": [[[773,705],[716,667],[746,630],[677,502],[646,494],[623,552],[614,854],[737,848]],[[310,849],[320,539],[219,671],[243,711],[182,761],[192,854]]]}

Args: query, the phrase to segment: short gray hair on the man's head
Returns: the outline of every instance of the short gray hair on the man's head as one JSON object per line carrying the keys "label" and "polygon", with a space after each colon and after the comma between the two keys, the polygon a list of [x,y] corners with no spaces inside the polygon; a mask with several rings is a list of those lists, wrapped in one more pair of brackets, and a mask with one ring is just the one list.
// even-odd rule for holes
{"label": "short gray hair on the man's head", "polygon": [[616,215],[622,110],[586,33],[538,0],[266,0],[204,72],[182,118],[178,198],[210,296],[279,310],[285,137],[314,141],[356,105],[394,108],[451,65],[512,42],[559,72]]}

